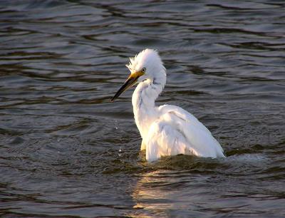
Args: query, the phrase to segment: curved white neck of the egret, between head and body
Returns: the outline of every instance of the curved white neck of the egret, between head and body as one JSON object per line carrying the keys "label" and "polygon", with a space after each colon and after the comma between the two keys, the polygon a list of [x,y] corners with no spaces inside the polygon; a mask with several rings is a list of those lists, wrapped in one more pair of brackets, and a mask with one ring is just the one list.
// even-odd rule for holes
{"label": "curved white neck of the egret, between head and body", "polygon": [[155,100],[162,92],[166,82],[166,76],[160,78],[142,81],[135,88],[132,103],[135,115],[135,123],[140,130],[140,135],[147,134],[150,124],[157,117],[157,108],[155,108]]}

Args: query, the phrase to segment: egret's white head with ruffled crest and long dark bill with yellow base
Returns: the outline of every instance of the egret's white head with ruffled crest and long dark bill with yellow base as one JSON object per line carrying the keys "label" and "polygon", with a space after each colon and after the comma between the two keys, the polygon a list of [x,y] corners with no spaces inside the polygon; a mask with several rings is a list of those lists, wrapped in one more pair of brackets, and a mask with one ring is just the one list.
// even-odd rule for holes
{"label": "egret's white head with ruffled crest and long dark bill with yellow base", "polygon": [[130,75],[118,92],[115,93],[111,101],[118,98],[120,94],[136,83],[140,83],[147,79],[153,81],[155,78],[159,78],[160,75],[157,74],[161,73],[164,73],[165,76],[165,67],[162,64],[157,51],[153,49],[147,48],[141,51],[135,57],[130,58],[130,63],[126,66],[130,70]]}

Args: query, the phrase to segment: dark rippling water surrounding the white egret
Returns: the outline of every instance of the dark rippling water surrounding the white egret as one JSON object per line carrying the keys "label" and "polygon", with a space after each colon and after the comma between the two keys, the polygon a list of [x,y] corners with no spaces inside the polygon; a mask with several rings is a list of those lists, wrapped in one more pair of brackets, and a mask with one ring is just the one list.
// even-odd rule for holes
{"label": "dark rippling water surrounding the white egret", "polygon": [[[1,217],[285,216],[284,1],[1,1]],[[128,57],[227,159],[140,152]]]}

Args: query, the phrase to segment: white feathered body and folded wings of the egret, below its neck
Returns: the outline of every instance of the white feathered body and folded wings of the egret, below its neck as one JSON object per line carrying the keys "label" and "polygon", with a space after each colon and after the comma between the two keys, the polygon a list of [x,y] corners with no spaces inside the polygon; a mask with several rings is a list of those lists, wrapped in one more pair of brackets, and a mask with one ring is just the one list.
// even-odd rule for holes
{"label": "white feathered body and folded wings of the egret, below its neck", "polygon": [[219,142],[209,130],[180,107],[162,105],[147,137],[147,159],[164,155],[192,154],[199,157],[224,157]]}

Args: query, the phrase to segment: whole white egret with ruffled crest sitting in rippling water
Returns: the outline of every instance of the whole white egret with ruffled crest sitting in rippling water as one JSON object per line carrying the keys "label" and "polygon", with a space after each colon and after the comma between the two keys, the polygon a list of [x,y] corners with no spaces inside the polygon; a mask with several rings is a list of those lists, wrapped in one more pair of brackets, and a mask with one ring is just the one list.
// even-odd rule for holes
{"label": "whole white egret with ruffled crest sitting in rippling water", "polygon": [[111,101],[138,83],[133,113],[142,137],[140,150],[146,150],[147,161],[178,154],[224,157],[219,142],[194,115],[174,105],[155,106],[166,83],[166,69],[157,51],[145,49],[126,66],[130,76]]}

